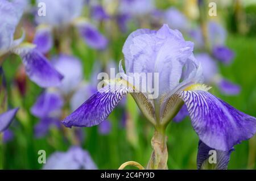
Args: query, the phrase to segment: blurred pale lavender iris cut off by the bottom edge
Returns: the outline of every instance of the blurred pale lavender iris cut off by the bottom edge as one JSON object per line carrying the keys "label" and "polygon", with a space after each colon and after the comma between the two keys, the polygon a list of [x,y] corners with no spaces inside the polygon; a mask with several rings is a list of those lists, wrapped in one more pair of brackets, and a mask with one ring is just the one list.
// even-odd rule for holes
{"label": "blurred pale lavender iris cut off by the bottom edge", "polygon": [[56,151],[51,154],[43,166],[44,170],[96,170],[88,151],[72,146],[67,152]]}

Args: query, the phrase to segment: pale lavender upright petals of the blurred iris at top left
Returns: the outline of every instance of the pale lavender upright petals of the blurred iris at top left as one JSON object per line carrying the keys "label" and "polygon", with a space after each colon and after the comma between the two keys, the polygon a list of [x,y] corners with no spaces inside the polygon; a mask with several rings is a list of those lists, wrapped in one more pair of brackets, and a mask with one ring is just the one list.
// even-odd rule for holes
{"label": "pale lavender upright petals of the blurred iris at top left", "polygon": [[37,0],[36,5],[44,3],[46,16],[36,14],[38,24],[49,24],[51,26],[63,26],[71,23],[73,19],[81,15],[83,0]]}

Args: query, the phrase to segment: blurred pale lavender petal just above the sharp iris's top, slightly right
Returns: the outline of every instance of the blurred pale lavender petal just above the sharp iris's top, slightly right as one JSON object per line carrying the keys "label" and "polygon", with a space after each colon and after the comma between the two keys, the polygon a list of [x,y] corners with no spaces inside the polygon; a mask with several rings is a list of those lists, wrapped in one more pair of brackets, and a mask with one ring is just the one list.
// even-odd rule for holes
{"label": "blurred pale lavender petal just above the sharp iris's top, slightly right", "polygon": [[187,31],[189,28],[189,22],[185,15],[174,7],[166,10],[164,20],[172,29]]}

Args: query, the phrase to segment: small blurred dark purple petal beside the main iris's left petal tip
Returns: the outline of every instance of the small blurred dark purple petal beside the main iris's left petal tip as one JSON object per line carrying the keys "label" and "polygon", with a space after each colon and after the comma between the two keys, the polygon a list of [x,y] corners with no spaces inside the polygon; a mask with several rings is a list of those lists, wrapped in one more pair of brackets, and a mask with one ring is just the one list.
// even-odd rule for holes
{"label": "small blurred dark purple petal beside the main iris's left petal tip", "polygon": [[46,136],[52,126],[60,127],[60,121],[52,117],[43,117],[39,123],[35,125],[35,136],[38,138]]}

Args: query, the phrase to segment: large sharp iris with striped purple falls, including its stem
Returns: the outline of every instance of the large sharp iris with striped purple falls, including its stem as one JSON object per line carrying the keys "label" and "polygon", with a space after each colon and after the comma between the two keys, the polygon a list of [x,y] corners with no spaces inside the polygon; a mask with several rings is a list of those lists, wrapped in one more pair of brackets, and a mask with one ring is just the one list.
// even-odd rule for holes
{"label": "large sharp iris with striped purple falls, including its stem", "polygon": [[[109,81],[66,117],[63,120],[66,127],[100,124],[130,93],[155,127],[148,169],[167,169],[166,127],[183,104],[187,107],[193,129],[209,148],[229,151],[234,145],[254,136],[255,117],[210,94],[209,87],[202,84],[203,71],[193,56],[193,43],[185,41],[179,31],[171,30],[166,24],[158,31],[134,31],[123,45],[123,54],[126,72],[120,64],[122,78]],[[158,84],[159,96],[150,99],[151,92],[141,91],[130,82],[138,78],[130,78],[130,73],[158,73],[159,81],[153,85]]]}

